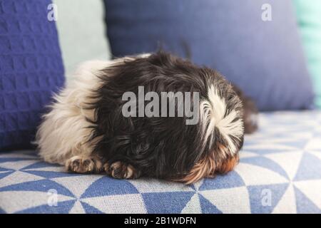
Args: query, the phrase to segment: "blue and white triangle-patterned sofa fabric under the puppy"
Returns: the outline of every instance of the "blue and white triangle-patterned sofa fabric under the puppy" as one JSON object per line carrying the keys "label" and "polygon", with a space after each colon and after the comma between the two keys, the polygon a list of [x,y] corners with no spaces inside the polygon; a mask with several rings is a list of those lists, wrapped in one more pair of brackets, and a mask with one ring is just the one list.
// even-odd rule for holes
{"label": "blue and white triangle-patterned sofa fabric under the puppy", "polygon": [[77,175],[34,151],[0,154],[3,213],[320,213],[321,112],[260,114],[228,175],[183,185]]}

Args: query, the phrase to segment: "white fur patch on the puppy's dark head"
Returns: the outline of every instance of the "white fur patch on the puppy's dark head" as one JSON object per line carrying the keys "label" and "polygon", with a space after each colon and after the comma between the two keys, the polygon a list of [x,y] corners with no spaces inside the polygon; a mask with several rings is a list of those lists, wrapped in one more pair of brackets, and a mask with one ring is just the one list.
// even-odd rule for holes
{"label": "white fur patch on the puppy's dark head", "polygon": [[[208,88],[208,99],[200,102],[200,120],[204,132],[203,146],[209,143],[211,147],[215,140],[215,128],[228,143],[230,155],[237,152],[232,137],[240,139],[244,133],[243,120],[238,118],[237,110],[227,110],[225,99],[218,95],[218,89],[211,85]],[[237,120],[235,120],[238,118]]]}

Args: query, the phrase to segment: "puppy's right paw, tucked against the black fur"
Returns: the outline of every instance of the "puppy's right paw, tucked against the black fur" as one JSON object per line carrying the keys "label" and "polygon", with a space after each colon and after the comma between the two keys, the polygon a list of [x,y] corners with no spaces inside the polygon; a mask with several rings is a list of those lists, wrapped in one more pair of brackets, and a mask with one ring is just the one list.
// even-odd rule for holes
{"label": "puppy's right paw, tucked against the black fur", "polygon": [[123,162],[114,162],[111,165],[106,163],[103,170],[116,179],[136,179],[140,174],[132,165]]}

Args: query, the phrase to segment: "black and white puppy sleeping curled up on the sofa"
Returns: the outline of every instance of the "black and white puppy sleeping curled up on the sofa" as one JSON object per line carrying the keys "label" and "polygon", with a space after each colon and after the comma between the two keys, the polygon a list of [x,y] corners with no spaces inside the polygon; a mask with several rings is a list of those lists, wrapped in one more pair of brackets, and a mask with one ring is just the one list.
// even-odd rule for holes
{"label": "black and white puppy sleeping curled up on the sofa", "polygon": [[164,52],[84,63],[50,109],[36,134],[46,162],[186,184],[233,170],[258,113],[217,71]]}

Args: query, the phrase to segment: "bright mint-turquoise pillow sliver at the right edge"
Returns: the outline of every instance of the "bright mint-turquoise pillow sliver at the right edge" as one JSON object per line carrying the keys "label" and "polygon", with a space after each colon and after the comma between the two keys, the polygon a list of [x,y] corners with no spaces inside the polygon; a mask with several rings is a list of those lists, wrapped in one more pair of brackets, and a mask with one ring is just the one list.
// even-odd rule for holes
{"label": "bright mint-turquoise pillow sliver at the right edge", "polygon": [[293,0],[315,88],[315,104],[321,108],[321,1]]}

